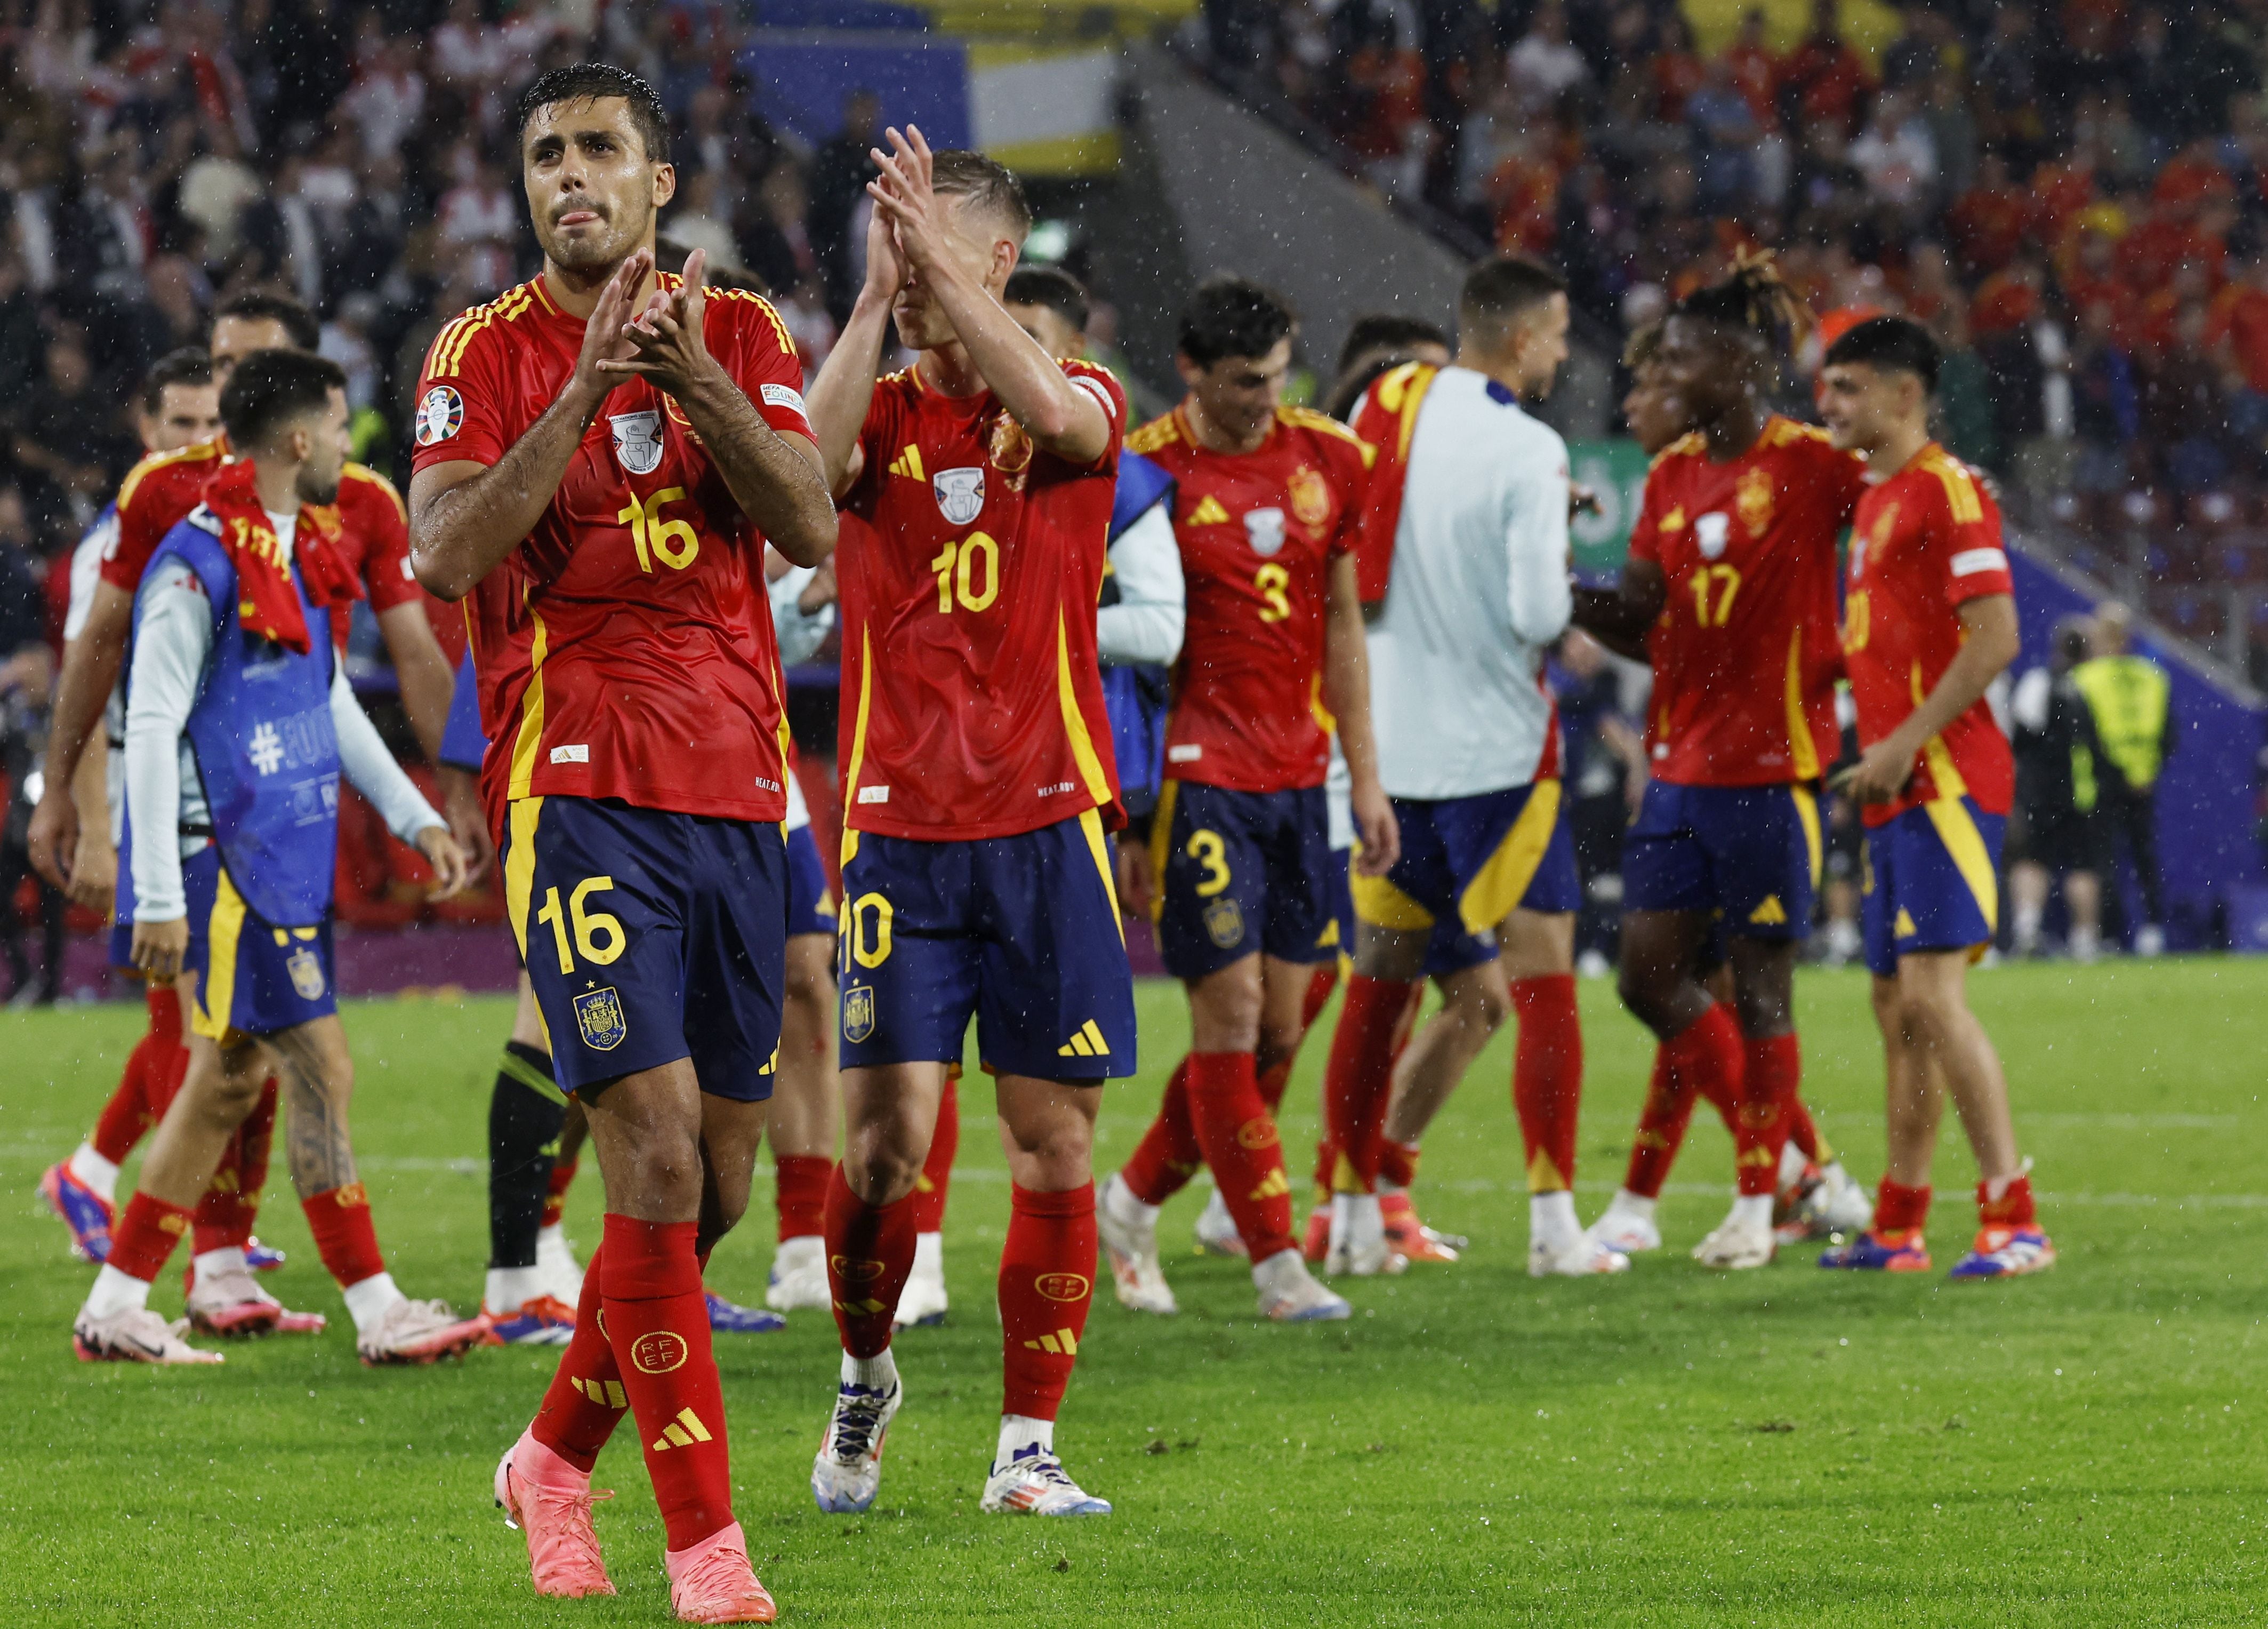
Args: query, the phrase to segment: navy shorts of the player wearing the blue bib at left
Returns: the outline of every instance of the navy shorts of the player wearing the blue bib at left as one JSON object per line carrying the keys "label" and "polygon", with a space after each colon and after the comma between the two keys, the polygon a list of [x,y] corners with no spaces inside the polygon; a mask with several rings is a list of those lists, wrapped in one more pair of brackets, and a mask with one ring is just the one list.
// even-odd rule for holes
{"label": "navy shorts of the player wearing the blue bib at left", "polygon": [[261,921],[229,880],[215,844],[181,862],[181,896],[188,901],[181,967],[197,976],[191,1030],[215,1041],[229,1030],[277,1035],[338,1012],[329,919],[297,928]]}

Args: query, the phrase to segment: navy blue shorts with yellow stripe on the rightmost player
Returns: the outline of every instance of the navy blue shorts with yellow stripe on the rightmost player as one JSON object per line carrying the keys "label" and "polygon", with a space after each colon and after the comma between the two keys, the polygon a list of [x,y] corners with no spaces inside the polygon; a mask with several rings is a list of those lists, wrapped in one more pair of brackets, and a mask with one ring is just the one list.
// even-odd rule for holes
{"label": "navy blue shorts with yellow stripe on the rightmost player", "polygon": [[1867,828],[1860,932],[1867,967],[1894,978],[1912,951],[1978,951],[2000,928],[2007,819],[1975,799],[1935,799]]}

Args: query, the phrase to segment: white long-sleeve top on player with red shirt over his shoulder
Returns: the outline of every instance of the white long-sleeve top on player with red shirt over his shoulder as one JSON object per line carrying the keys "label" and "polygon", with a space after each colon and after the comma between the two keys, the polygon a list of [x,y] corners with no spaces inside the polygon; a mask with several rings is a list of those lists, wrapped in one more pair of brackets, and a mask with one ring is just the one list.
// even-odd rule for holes
{"label": "white long-sleeve top on player with red shirt over his shoulder", "polygon": [[1386,606],[1370,626],[1379,780],[1397,799],[1526,785],[1545,753],[1545,649],[1567,628],[1567,442],[1470,368],[1411,436]]}

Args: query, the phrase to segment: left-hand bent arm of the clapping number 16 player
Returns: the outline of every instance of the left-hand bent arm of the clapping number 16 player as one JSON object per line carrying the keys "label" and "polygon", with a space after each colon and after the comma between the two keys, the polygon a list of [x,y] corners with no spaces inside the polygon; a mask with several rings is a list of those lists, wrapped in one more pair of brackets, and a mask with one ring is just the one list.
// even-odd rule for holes
{"label": "left-hand bent arm of the clapping number 16 player", "polygon": [[599,309],[583,324],[583,352],[567,388],[501,458],[492,465],[451,458],[411,476],[411,565],[429,594],[463,599],[535,531],[583,431],[619,383],[601,374],[599,363],[626,354],[621,329],[651,270],[653,254],[637,250],[608,279]]}

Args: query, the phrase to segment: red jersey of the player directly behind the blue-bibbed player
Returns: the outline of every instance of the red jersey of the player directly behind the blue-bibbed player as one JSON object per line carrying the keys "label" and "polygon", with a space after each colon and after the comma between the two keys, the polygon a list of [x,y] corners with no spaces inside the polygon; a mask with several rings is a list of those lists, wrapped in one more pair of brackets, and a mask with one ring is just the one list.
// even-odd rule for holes
{"label": "red jersey of the player directly behind the blue-bibbed player", "polygon": [[[204,483],[229,458],[229,438],[159,451],[127,470],[118,488],[118,533],[102,556],[102,581],[127,590],[141,585],[143,567],[188,510],[204,499]],[[338,551],[363,579],[372,610],[390,610],[424,590],[411,572],[408,510],[395,483],[376,470],[349,463],[338,481],[338,499],[299,510],[302,535]],[[331,617],[331,635],[347,644],[347,619]]]}

